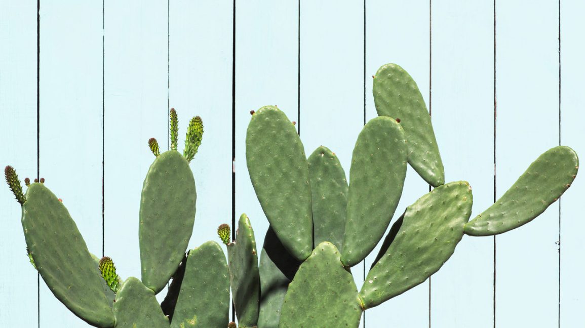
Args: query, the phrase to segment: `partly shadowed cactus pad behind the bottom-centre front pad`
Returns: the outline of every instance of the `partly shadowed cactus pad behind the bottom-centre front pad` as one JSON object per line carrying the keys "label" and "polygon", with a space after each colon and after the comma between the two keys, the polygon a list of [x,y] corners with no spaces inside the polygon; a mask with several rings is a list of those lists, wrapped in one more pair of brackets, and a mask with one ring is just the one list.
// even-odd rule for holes
{"label": "partly shadowed cactus pad behind the bottom-centre front pad", "polygon": [[288,254],[271,227],[260,253],[260,315],[258,326],[277,328],[288,284],[301,263]]}

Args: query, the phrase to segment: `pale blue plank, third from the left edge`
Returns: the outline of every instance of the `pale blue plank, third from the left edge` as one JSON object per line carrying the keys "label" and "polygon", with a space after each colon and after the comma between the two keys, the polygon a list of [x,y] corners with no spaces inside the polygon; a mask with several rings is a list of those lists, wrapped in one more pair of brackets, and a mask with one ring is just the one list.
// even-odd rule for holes
{"label": "pale blue plank, third from the left edge", "polygon": [[104,249],[123,279],[140,278],[140,192],[154,160],[149,138],[168,149],[167,2],[105,1],[104,12]]}

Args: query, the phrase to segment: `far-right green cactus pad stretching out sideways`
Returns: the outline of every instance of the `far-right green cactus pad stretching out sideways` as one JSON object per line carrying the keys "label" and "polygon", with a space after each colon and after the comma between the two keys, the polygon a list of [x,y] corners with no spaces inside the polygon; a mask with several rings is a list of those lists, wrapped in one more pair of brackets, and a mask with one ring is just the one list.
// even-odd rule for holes
{"label": "far-right green cactus pad stretching out sideways", "polygon": [[491,236],[531,222],[570,187],[577,170],[574,150],[566,146],[547,150],[494,205],[465,225],[465,233]]}

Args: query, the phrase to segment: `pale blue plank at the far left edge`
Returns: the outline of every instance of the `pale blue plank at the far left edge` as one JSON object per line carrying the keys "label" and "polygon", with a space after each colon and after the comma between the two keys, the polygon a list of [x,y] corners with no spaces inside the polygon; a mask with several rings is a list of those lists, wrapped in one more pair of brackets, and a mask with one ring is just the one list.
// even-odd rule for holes
{"label": "pale blue plank at the far left edge", "polygon": [[[37,172],[36,16],[36,3],[0,3],[0,163],[16,169],[23,188]],[[4,182],[0,209],[0,326],[36,327],[37,272],[26,256],[20,204]]]}

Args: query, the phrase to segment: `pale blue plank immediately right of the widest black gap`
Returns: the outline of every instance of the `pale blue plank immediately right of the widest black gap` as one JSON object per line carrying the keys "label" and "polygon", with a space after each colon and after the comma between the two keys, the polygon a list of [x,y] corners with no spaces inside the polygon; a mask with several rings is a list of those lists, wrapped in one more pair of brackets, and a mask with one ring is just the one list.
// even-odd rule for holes
{"label": "pale blue plank immediately right of the widest black gap", "polygon": [[[277,105],[297,118],[297,2],[242,1],[236,4],[236,227],[250,217],[260,248],[268,220],[254,193],[246,166],[250,111]],[[301,123],[302,124],[302,123]]]}

